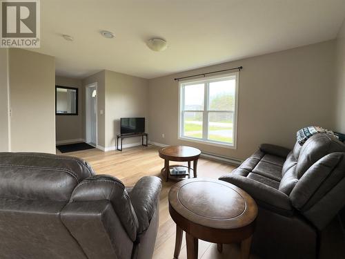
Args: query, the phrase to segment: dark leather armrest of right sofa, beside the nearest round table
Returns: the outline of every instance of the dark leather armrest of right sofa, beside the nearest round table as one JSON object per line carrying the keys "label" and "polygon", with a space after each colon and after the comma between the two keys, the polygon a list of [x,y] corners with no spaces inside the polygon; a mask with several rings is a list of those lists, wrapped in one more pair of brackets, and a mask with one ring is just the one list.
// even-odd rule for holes
{"label": "dark leather armrest of right sofa, beside the nearest round table", "polygon": [[259,207],[281,215],[293,215],[293,207],[290,204],[290,199],[282,191],[242,175],[231,173],[222,176],[219,180],[235,184],[237,187],[246,191],[259,204]]}

